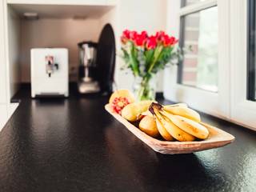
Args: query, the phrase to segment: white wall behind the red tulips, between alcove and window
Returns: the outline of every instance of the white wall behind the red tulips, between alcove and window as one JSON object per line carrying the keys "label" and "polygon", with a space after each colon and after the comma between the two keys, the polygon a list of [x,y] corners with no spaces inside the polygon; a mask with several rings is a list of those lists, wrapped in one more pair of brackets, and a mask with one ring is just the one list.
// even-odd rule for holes
{"label": "white wall behind the red tulips, between alcove and window", "polygon": [[[123,30],[146,30],[149,34],[157,30],[166,30],[166,0],[119,0],[118,2],[118,37],[117,50],[120,52],[119,37]],[[115,78],[118,88],[131,89],[133,76],[127,71],[118,70],[122,66],[122,59],[117,58]],[[158,75],[158,91],[162,91],[162,73]]]}

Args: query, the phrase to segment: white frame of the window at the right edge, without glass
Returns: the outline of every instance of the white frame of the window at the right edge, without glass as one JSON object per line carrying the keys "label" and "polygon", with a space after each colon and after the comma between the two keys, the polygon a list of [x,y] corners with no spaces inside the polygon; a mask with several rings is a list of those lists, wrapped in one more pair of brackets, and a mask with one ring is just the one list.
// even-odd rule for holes
{"label": "white frame of the window at the right edge, without glass", "polygon": [[249,101],[247,92],[247,33],[248,1],[232,0],[230,4],[230,63],[231,108],[230,118],[256,130],[256,102]]}

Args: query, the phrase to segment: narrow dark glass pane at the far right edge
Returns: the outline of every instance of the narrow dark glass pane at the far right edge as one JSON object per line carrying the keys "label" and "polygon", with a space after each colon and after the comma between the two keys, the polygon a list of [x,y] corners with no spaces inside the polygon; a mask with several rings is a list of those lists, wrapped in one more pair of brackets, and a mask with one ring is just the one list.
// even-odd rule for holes
{"label": "narrow dark glass pane at the far right edge", "polygon": [[247,79],[247,98],[251,101],[256,101],[256,62],[255,62],[255,26],[256,26],[256,19],[255,19],[255,2],[254,0],[249,1],[249,35],[248,35],[248,79]]}

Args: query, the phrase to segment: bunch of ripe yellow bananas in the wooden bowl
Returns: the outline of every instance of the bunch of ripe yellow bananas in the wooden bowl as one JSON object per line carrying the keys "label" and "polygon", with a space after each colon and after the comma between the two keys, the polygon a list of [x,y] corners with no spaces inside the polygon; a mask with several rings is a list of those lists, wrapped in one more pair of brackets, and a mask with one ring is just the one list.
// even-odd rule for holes
{"label": "bunch of ripe yellow bananas in the wooden bowl", "polygon": [[206,139],[209,131],[201,122],[200,115],[186,104],[162,106],[153,102],[150,113],[154,115],[159,134],[167,141],[191,142]]}

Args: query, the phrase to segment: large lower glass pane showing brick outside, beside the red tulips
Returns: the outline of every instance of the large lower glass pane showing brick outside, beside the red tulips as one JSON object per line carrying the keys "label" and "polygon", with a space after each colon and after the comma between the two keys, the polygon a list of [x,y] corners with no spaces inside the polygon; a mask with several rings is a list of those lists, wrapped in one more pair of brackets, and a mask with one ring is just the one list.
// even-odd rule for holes
{"label": "large lower glass pane showing brick outside, beside the red tulips", "polygon": [[184,55],[178,82],[218,91],[217,6],[182,17],[180,46]]}

